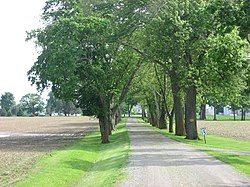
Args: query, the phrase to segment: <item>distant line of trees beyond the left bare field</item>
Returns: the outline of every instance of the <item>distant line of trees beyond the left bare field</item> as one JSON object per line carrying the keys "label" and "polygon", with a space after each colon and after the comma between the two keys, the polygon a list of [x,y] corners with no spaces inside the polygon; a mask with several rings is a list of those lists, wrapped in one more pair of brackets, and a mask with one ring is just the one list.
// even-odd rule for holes
{"label": "distant line of trees beyond the left bare field", "polygon": [[39,94],[24,95],[19,103],[15,102],[14,94],[5,92],[0,98],[0,116],[39,116],[39,115],[75,115],[81,114],[72,101],[57,99],[52,92],[45,103]]}

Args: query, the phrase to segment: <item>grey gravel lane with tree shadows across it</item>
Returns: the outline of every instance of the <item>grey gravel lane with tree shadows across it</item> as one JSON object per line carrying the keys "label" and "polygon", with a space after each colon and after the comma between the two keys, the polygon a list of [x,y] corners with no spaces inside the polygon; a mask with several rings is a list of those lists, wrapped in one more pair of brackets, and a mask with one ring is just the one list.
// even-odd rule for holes
{"label": "grey gravel lane with tree shadows across it", "polygon": [[250,186],[231,166],[130,119],[129,179],[118,186]]}

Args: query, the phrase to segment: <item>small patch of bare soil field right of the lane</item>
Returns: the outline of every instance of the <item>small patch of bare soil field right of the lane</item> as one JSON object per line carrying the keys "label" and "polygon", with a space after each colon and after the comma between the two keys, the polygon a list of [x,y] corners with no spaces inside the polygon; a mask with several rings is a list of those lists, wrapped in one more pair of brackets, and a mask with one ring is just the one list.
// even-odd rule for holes
{"label": "small patch of bare soil field right of the lane", "polygon": [[202,127],[208,134],[250,140],[250,121],[198,121],[198,130]]}

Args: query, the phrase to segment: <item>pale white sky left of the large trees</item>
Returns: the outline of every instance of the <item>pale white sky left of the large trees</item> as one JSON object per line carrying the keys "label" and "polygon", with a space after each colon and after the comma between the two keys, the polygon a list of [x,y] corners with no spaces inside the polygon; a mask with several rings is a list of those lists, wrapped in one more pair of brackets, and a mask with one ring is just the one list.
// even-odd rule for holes
{"label": "pale white sky left of the large trees", "polygon": [[[18,102],[27,93],[37,93],[27,71],[37,58],[35,45],[26,42],[26,31],[42,25],[45,0],[0,1],[0,95],[11,92]],[[48,91],[43,93],[46,97]]]}

